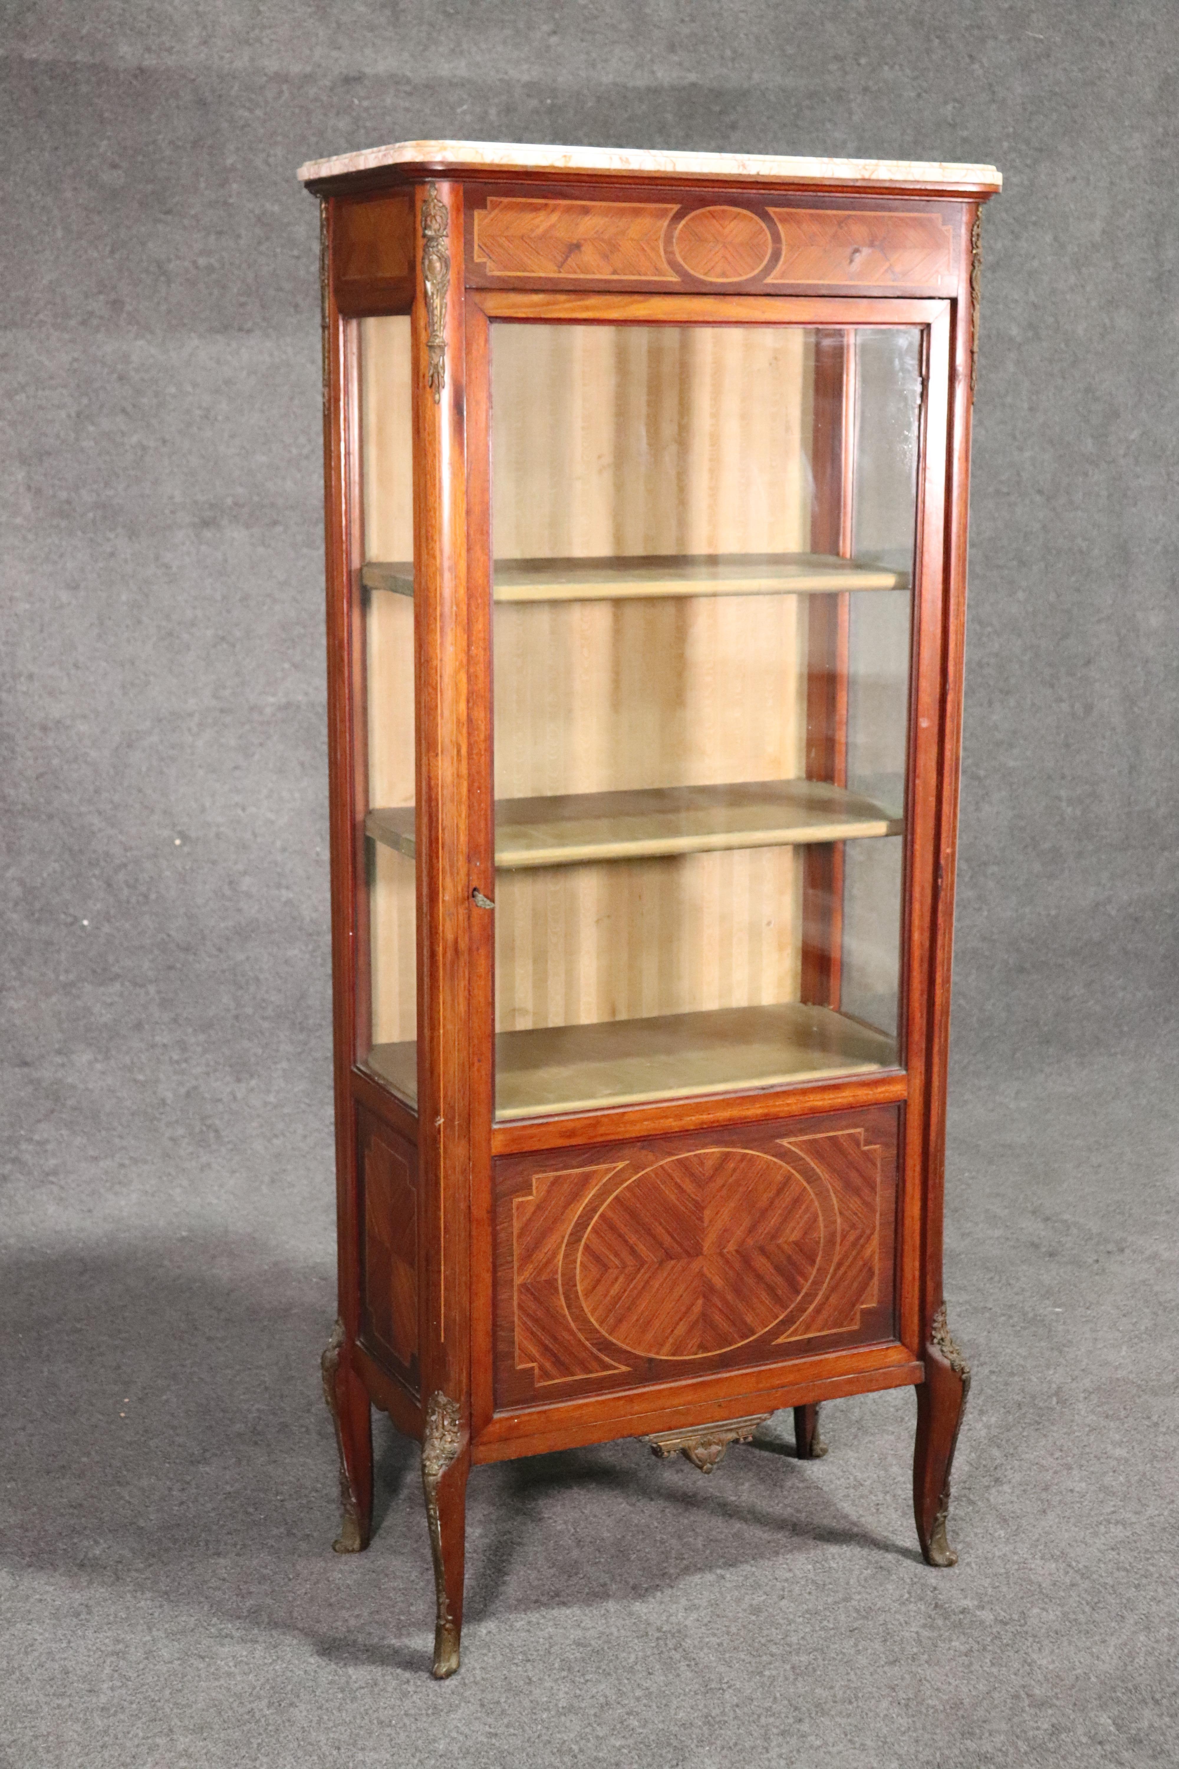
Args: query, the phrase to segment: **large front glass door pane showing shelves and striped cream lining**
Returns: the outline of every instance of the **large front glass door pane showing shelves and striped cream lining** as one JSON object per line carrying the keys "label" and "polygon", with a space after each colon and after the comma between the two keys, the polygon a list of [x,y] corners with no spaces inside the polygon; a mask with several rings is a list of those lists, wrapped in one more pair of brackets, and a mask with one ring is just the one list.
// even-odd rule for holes
{"label": "large front glass door pane showing shelves and striped cream lining", "polygon": [[500,1118],[898,1061],[917,347],[493,324]]}

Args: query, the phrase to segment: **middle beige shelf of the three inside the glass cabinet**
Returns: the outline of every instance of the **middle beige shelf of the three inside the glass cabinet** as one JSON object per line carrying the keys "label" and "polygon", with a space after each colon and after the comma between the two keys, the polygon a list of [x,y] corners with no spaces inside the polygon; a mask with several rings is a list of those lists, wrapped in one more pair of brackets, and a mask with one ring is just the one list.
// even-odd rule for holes
{"label": "middle beige shelf of the three inside the glass cabinet", "polygon": [[[495,865],[564,867],[587,860],[700,854],[900,835],[900,817],[824,780],[663,785],[636,793],[566,793],[495,803]],[[414,854],[414,807],[369,810],[364,830]]]}

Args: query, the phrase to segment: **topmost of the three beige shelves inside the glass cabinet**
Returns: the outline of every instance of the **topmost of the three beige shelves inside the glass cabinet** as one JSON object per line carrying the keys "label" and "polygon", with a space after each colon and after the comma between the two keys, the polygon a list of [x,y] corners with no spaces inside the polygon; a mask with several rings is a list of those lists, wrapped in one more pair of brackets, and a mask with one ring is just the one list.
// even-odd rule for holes
{"label": "topmost of the three beige shelves inside the glass cabinet", "polygon": [[[907,589],[903,571],[829,554],[682,554],[636,559],[497,559],[495,601],[617,601],[652,596],[799,596]],[[412,564],[362,566],[366,589],[414,594]]]}

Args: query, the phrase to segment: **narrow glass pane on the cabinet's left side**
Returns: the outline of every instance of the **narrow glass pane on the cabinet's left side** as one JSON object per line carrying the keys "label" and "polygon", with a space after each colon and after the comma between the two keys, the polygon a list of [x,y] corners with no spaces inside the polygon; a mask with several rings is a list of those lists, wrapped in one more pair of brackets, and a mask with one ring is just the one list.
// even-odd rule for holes
{"label": "narrow glass pane on the cabinet's left side", "polygon": [[410,594],[362,573],[368,778],[368,1005],[361,1060],[417,1104],[417,867],[414,860],[414,448],[410,320],[361,320],[364,559],[394,566]]}

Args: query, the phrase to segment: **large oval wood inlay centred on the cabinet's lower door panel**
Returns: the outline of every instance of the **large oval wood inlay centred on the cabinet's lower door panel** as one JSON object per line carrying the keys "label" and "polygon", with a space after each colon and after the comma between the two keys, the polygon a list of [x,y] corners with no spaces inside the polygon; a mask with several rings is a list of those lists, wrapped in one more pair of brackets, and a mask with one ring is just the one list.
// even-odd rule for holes
{"label": "large oval wood inlay centred on the cabinet's lower door panel", "polygon": [[578,1291],[606,1337],[643,1357],[709,1357],[765,1332],[810,1283],[818,1205],[781,1160],[700,1148],[661,1160],[597,1212]]}

